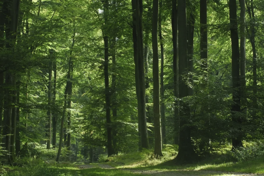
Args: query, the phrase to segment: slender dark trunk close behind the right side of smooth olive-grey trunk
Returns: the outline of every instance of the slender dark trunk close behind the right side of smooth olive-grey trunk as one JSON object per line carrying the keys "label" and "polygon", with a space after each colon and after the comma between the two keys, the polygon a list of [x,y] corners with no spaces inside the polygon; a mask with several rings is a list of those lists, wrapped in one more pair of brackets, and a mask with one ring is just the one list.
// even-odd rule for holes
{"label": "slender dark trunk close behind the right side of smooth olive-grey trunk", "polygon": [[161,69],[160,69],[160,94],[161,94],[161,122],[162,122],[162,140],[163,143],[166,144],[166,121],[165,121],[165,104],[164,104],[164,48],[163,48],[163,38],[162,38],[162,30],[161,30],[161,14],[162,14],[162,0],[159,2],[160,10],[159,10],[159,39],[160,39],[160,56],[161,56]]}

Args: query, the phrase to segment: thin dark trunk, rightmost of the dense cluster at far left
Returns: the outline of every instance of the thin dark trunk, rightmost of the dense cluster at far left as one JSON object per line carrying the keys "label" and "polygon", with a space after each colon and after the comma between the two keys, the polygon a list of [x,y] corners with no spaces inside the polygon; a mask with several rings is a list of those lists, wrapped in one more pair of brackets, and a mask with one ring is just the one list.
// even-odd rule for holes
{"label": "thin dark trunk, rightmost of the dense cluster at far left", "polygon": [[15,136],[15,142],[16,142],[16,156],[18,157],[20,155],[20,81],[18,80],[16,82],[16,103],[18,104],[18,107],[16,108],[16,136]]}

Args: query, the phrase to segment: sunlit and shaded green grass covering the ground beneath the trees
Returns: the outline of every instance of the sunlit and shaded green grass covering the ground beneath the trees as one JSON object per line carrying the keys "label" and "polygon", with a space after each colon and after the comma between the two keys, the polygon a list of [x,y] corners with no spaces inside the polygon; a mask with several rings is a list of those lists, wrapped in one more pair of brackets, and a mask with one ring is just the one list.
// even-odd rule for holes
{"label": "sunlit and shaded green grass covering the ground beneath the trees", "polygon": [[[159,172],[164,175],[228,175],[227,172],[264,174],[264,158],[255,158],[246,162],[230,162],[225,154],[216,154],[210,158],[195,164],[176,165],[175,146],[165,146],[164,157],[157,159],[152,150],[142,152],[119,154],[110,157],[107,164],[114,168],[102,169],[100,164],[93,163],[94,168],[79,169],[77,164],[72,163],[45,163],[40,159],[25,161],[23,167],[3,166],[0,168],[0,176],[135,176],[128,170],[139,170],[139,172]],[[101,156],[101,161],[105,161]],[[2,169],[2,170],[1,170]],[[126,169],[126,170],[125,170]],[[237,175],[237,174],[233,174]]]}

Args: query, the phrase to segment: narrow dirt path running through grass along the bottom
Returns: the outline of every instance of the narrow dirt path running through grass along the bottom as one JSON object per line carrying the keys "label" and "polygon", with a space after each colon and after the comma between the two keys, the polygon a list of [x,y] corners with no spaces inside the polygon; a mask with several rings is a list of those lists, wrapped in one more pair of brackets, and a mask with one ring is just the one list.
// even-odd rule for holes
{"label": "narrow dirt path running through grass along the bottom", "polygon": [[[114,169],[114,167],[107,164],[88,164],[88,165],[79,165],[80,169],[89,169],[100,167],[102,169]],[[131,169],[120,169],[127,170],[132,173],[142,174],[142,175],[153,175],[153,176],[264,176],[256,174],[246,174],[246,173],[229,173],[221,171],[210,171],[210,170],[174,170],[174,171],[164,171],[164,170],[131,170]]]}

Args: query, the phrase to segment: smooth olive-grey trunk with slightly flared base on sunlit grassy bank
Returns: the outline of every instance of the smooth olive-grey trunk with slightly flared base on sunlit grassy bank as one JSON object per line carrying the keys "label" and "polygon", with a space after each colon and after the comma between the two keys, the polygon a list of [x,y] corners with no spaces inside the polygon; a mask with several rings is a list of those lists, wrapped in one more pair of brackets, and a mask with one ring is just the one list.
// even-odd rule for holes
{"label": "smooth olive-grey trunk with slightly flared base on sunlit grassy bank", "polygon": [[159,53],[158,53],[158,13],[159,0],[153,0],[152,12],[152,50],[153,50],[153,109],[155,146],[154,155],[163,156],[160,125],[160,80],[159,80]]}

